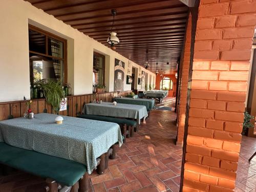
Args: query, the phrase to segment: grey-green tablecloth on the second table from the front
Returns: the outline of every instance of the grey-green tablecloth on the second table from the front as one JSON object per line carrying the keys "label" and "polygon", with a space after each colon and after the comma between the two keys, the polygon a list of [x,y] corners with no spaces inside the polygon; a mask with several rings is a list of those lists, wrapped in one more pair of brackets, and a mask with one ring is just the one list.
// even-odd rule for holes
{"label": "grey-green tablecloth on the second table from the front", "polygon": [[86,104],[86,114],[142,119],[147,116],[147,110],[142,105],[123,103],[114,105],[111,102],[102,102]]}

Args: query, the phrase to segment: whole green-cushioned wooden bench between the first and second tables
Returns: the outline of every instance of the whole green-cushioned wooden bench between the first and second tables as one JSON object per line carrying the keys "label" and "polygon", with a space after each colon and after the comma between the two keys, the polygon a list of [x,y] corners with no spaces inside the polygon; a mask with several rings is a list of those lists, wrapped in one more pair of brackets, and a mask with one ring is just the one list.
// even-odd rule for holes
{"label": "whole green-cushioned wooden bench between the first and second tables", "polygon": [[106,122],[112,122],[117,123],[121,127],[121,133],[124,136],[123,142],[126,142],[126,137],[129,138],[130,136],[134,136],[134,129],[137,126],[136,121],[129,120],[129,119],[120,119],[115,117],[106,117],[106,116],[99,116],[99,115],[79,115],[78,118],[83,119],[91,119],[91,120],[97,120],[97,121],[106,121]]}

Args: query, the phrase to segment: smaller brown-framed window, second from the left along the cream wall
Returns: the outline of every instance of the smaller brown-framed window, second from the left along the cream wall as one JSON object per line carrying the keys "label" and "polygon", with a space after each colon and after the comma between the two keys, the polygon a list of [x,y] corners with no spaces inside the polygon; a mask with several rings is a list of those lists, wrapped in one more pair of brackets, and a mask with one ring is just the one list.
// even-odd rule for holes
{"label": "smaller brown-framed window, second from the left along the cream wall", "polygon": [[93,84],[104,86],[105,76],[105,56],[99,53],[93,53]]}

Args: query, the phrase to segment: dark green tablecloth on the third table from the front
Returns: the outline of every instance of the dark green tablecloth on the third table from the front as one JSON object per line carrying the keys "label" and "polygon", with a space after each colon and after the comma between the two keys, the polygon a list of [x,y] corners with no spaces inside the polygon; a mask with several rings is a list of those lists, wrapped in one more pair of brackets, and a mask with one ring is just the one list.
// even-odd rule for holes
{"label": "dark green tablecloth on the third table from the front", "polygon": [[138,105],[144,105],[146,106],[147,110],[153,110],[155,109],[155,100],[154,99],[139,99],[139,98],[114,98],[114,101],[118,103],[124,103],[124,104],[138,104]]}

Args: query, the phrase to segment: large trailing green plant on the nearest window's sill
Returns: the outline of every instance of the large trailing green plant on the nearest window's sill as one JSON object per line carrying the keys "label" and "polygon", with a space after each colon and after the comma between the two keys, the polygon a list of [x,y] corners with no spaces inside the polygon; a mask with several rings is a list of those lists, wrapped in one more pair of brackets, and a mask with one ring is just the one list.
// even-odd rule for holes
{"label": "large trailing green plant on the nearest window's sill", "polygon": [[44,90],[46,102],[52,105],[53,113],[58,114],[60,102],[62,98],[65,97],[65,93],[63,92],[61,86],[61,81],[42,79],[37,80],[35,84],[37,87],[40,87],[42,90]]}

